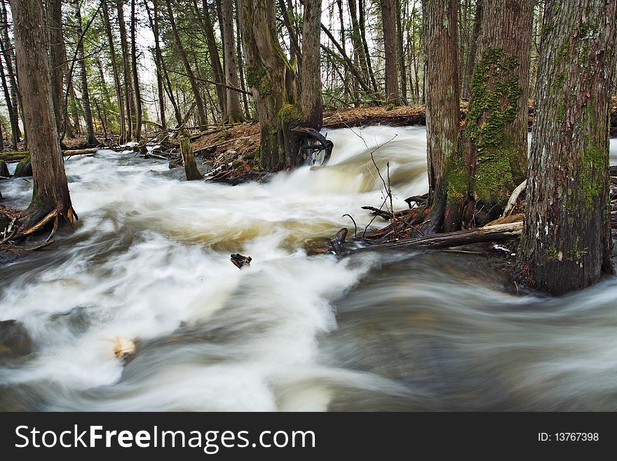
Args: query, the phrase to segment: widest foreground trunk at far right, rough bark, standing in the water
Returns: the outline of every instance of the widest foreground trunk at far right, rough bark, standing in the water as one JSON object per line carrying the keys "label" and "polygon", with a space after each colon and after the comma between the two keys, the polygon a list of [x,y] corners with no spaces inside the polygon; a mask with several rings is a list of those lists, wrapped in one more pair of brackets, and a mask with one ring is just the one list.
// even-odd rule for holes
{"label": "widest foreground trunk at far right, rough bark, standing in the water", "polygon": [[543,30],[515,278],[561,295],[613,272],[608,121],[617,4],[550,0]]}

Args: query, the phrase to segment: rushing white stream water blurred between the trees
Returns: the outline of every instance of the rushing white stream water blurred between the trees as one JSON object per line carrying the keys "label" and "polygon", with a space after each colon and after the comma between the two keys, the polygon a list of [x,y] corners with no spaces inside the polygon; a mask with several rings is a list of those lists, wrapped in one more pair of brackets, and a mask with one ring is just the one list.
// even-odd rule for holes
{"label": "rushing white stream water blurred between the trees", "polygon": [[[75,232],[0,267],[0,320],[34,340],[0,362],[0,410],[617,409],[614,278],[548,300],[511,293],[501,257],[307,255],[381,205],[375,147],[395,208],[426,192],[423,128],[328,136],[329,166],[264,185],[67,159]],[[31,186],[3,182],[5,204]],[[126,364],[116,337],[137,341]]]}

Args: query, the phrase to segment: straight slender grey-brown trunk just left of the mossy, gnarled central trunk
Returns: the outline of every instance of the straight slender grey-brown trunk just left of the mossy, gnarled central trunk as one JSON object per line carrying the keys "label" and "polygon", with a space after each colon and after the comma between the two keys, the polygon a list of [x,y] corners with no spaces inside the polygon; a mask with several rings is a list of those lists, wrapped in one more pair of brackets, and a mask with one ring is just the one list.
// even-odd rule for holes
{"label": "straight slender grey-brown trunk just left of the mossy, gnarled central trunk", "polygon": [[[236,68],[236,43],[233,39],[233,0],[223,0],[223,52],[225,55],[225,84],[233,88],[238,88],[238,69]],[[227,107],[225,118],[229,123],[244,121],[242,107],[240,107],[240,93],[226,88]]]}

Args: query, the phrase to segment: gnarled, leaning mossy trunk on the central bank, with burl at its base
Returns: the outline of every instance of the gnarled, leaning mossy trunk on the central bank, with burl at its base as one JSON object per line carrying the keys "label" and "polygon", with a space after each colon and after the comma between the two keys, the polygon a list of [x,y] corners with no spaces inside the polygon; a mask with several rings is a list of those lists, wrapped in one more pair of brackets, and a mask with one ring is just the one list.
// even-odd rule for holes
{"label": "gnarled, leaning mossy trunk on the central bank, with burl at its base", "polygon": [[299,159],[292,151],[299,140],[290,127],[297,125],[302,116],[296,106],[294,72],[277,39],[274,3],[242,0],[239,13],[246,79],[262,133],[260,165],[268,170],[297,166]]}

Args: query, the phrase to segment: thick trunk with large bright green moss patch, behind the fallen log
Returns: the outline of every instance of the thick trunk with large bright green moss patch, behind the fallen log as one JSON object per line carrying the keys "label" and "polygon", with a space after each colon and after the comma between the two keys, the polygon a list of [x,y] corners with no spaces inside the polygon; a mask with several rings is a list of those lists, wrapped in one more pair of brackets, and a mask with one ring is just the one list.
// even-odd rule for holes
{"label": "thick trunk with large bright green moss patch, behind the fallen log", "polygon": [[[456,190],[470,225],[499,215],[527,174],[527,100],[533,0],[484,2]],[[465,182],[468,184],[465,184]],[[463,217],[463,219],[465,219]],[[473,222],[476,220],[476,222]]]}

